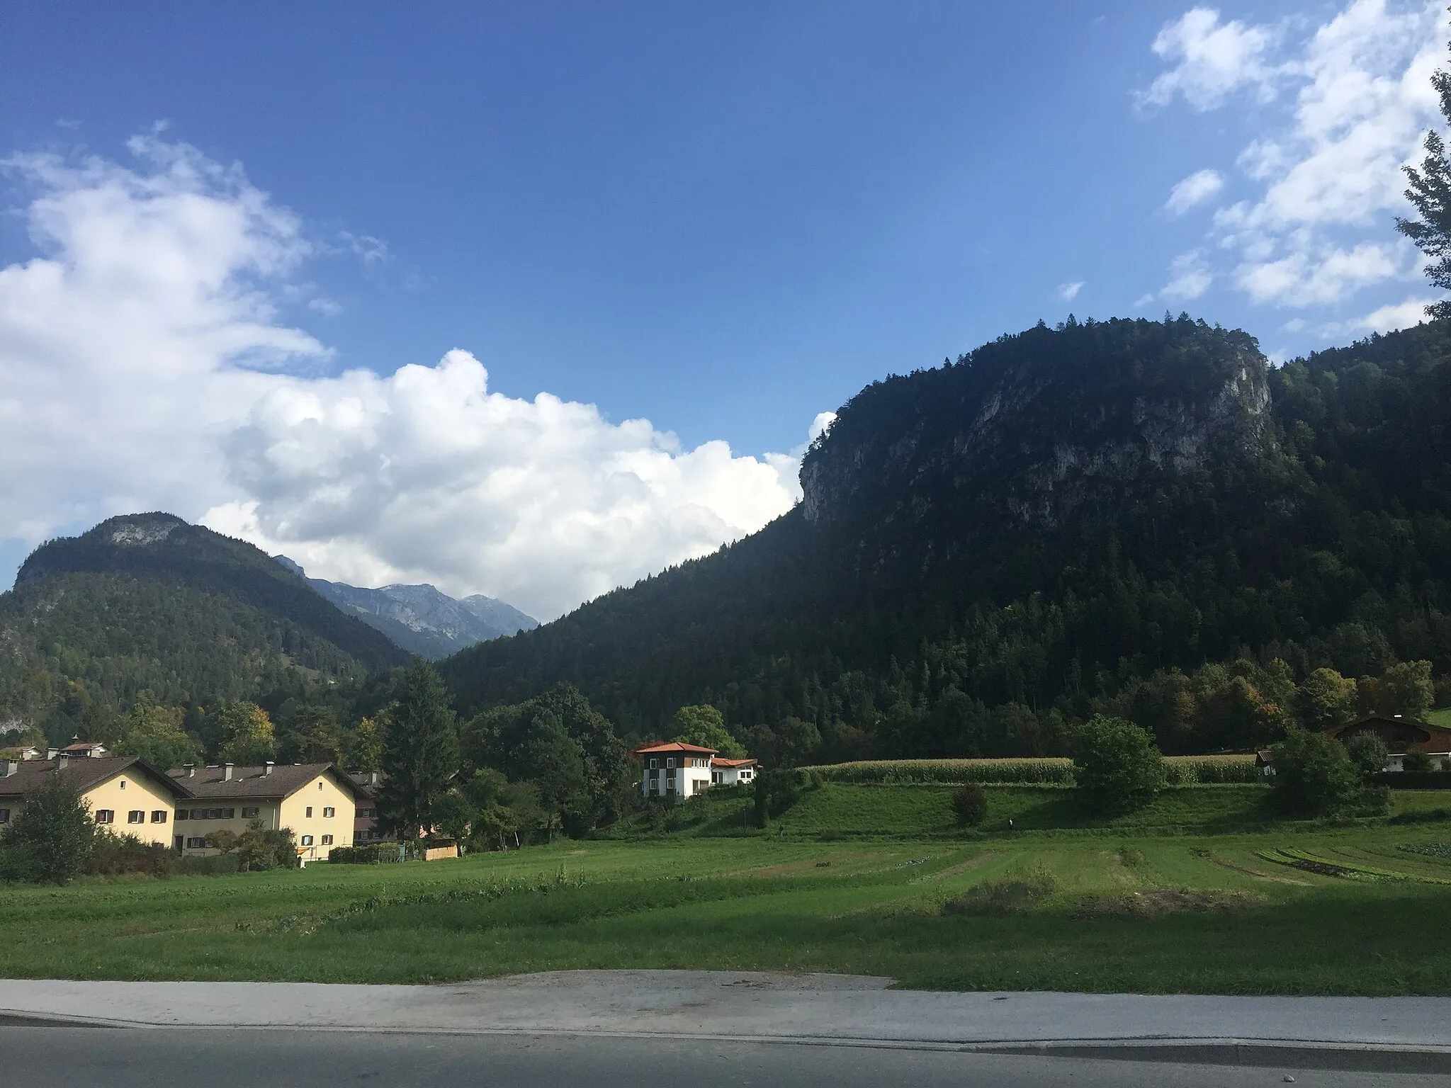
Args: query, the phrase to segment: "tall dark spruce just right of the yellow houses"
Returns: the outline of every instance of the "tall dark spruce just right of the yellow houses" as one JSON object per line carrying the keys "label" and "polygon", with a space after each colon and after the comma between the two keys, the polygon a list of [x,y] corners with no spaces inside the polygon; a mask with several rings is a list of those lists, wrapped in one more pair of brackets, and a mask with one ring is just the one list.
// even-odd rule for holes
{"label": "tall dark spruce just right of the yellow houses", "polygon": [[382,763],[379,827],[402,838],[428,834],[459,770],[459,727],[443,679],[421,659],[399,677]]}

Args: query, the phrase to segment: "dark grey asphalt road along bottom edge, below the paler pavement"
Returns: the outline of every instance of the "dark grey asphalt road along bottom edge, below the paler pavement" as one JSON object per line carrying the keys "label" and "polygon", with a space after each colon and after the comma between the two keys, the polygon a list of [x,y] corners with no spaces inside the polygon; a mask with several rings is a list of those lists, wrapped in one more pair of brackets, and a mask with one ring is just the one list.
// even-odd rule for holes
{"label": "dark grey asphalt road along bottom edge, below the paler pavement", "polygon": [[[634,1088],[649,1084],[788,1088],[1239,1088],[1451,1085],[1451,1075],[1286,1063],[1107,1060],[1088,1056],[583,1036],[450,1036],[257,1029],[0,1026],[4,1088]],[[1390,1056],[1394,1058],[1394,1056]],[[1344,1059],[1332,1058],[1342,1062]],[[1406,1068],[1406,1066],[1403,1066]],[[1412,1066],[1413,1068],[1413,1066]],[[1426,1068],[1422,1065],[1422,1068]]]}

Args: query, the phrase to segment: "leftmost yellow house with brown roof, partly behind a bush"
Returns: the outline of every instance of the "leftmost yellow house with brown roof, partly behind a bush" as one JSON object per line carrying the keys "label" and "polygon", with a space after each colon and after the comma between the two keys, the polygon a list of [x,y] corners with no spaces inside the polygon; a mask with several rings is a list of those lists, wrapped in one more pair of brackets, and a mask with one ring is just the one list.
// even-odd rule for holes
{"label": "leftmost yellow house with brown roof, partly behind a bush", "polygon": [[0,831],[25,808],[26,795],[57,775],[81,795],[97,825],[171,844],[176,804],[186,789],[135,756],[0,762]]}

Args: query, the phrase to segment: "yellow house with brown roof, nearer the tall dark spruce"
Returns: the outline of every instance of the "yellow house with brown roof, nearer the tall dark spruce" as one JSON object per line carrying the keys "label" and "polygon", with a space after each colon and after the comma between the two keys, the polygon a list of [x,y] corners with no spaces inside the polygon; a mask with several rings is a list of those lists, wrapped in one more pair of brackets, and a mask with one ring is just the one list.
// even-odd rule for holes
{"label": "yellow house with brown roof, nearer the tall dark spruce", "polygon": [[264,763],[260,767],[186,766],[167,772],[180,786],[173,846],[189,856],[215,854],[207,836],[239,836],[254,820],[296,836],[303,862],[325,860],[335,846],[353,846],[357,785],[332,763]]}

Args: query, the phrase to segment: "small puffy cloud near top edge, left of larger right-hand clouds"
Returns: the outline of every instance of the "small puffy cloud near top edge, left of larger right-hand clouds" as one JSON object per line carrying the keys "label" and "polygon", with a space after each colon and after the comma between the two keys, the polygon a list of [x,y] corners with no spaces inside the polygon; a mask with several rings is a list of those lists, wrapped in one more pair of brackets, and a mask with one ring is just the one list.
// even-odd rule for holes
{"label": "small puffy cloud near top edge, left of larger right-hand clouds", "polygon": [[1268,100],[1278,73],[1265,58],[1275,38],[1273,28],[1245,26],[1238,19],[1220,23],[1217,10],[1194,7],[1154,39],[1154,52],[1174,67],[1154,80],[1139,100],[1167,106],[1183,94],[1196,110],[1209,110],[1246,86]]}

